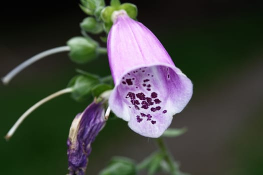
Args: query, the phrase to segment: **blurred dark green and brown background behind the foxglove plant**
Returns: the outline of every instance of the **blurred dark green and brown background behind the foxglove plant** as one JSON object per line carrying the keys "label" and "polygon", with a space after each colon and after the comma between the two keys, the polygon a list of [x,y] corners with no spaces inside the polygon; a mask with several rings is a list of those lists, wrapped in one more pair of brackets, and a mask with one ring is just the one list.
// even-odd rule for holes
{"label": "blurred dark green and brown background behind the foxglove plant", "polygon": [[[107,1],[108,2],[108,1]],[[122,2],[126,2],[123,0]],[[160,39],[193,81],[187,107],[172,126],[188,128],[167,138],[181,169],[195,175],[263,174],[263,5],[240,0],[129,0],[138,19]],[[80,35],[86,16],[77,0],[1,2],[0,76],[45,49]],[[82,68],[110,73],[106,56],[72,63],[67,53],[46,57],[0,85],[0,174],[66,174],[69,127],[89,103],[60,96],[33,112],[10,141],[12,124],[39,99],[64,88]],[[153,139],[111,119],[92,145],[87,174],[113,155],[137,161],[156,149]]]}

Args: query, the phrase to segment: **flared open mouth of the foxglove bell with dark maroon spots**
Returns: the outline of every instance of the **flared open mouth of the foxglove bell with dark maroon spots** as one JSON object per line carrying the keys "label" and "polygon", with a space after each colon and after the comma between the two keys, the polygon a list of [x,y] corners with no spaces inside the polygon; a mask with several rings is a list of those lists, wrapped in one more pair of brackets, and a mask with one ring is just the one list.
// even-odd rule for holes
{"label": "flared open mouth of the foxglove bell with dark maroon spots", "polygon": [[155,65],[134,69],[116,84],[109,99],[114,113],[135,132],[159,137],[192,95],[192,83],[176,69]]}

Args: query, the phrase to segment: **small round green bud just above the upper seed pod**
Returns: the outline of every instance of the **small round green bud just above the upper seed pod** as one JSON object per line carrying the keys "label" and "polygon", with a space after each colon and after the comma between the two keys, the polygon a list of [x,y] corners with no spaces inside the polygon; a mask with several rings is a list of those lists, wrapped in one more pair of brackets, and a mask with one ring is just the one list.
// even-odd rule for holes
{"label": "small round green bud just above the upper seed pod", "polygon": [[81,28],[85,31],[98,34],[103,31],[103,26],[94,17],[86,17],[80,23]]}

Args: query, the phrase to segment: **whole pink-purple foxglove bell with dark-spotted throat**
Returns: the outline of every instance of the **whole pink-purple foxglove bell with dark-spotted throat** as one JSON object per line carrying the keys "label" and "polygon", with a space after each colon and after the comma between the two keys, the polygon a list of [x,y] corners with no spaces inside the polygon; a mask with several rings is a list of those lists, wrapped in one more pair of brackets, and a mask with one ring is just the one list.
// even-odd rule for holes
{"label": "whole pink-purple foxglove bell with dark-spotted throat", "polygon": [[156,36],[126,11],[114,11],[108,57],[115,87],[112,111],[135,132],[159,137],[192,96],[191,80],[177,68]]}

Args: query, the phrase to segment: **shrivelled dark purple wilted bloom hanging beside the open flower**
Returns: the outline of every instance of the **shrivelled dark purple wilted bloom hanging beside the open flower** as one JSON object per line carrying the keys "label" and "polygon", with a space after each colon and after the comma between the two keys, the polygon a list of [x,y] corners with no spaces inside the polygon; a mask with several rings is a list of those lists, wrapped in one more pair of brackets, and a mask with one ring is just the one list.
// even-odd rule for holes
{"label": "shrivelled dark purple wilted bloom hanging beside the open flower", "polygon": [[104,113],[102,103],[92,102],[74,118],[67,141],[71,175],[85,174],[91,143],[105,125]]}

